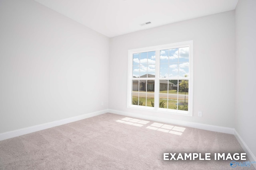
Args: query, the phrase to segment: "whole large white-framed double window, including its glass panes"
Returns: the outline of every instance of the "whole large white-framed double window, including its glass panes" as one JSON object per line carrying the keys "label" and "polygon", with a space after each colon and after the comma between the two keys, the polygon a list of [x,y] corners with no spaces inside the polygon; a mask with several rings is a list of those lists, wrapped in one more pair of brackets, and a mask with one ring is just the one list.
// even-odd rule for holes
{"label": "whole large white-framed double window, including its glass panes", "polygon": [[192,116],[193,42],[129,50],[128,107]]}

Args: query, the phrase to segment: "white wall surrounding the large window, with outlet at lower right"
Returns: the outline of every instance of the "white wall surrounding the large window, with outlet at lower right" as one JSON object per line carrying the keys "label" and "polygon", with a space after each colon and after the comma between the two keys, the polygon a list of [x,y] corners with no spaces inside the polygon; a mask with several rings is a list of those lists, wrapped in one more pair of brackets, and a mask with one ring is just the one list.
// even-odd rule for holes
{"label": "white wall surrounding the large window, with outlet at lower right", "polygon": [[[128,109],[128,50],[188,40],[194,40],[194,116]],[[109,69],[109,109],[234,128],[234,11],[111,38]]]}

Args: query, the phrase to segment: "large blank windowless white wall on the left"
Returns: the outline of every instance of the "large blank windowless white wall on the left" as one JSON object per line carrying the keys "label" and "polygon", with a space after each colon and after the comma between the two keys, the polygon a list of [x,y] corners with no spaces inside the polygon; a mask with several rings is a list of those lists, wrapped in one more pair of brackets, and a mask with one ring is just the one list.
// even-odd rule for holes
{"label": "large blank windowless white wall on the left", "polygon": [[108,108],[108,37],[33,0],[0,25],[0,133]]}

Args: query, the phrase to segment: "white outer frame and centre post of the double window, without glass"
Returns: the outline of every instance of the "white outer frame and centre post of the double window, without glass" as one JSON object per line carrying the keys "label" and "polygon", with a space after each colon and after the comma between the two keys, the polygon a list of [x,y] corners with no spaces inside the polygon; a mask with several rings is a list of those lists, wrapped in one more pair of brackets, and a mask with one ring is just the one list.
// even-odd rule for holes
{"label": "white outer frame and centre post of the double window, without glass", "polygon": [[[189,102],[188,102],[188,111],[183,110],[175,110],[175,109],[166,109],[159,107],[159,80],[166,80],[166,78],[160,78],[160,50],[165,49],[174,49],[174,48],[181,48],[181,47],[189,47],[189,76],[188,78],[182,78],[182,80],[189,80],[188,87],[189,87]],[[149,51],[156,51],[156,76],[155,80],[155,92],[154,92],[154,107],[149,106],[138,106],[132,105],[132,64],[133,64],[133,54],[135,53],[143,53]],[[152,78],[150,78],[152,79]],[[138,79],[142,80],[142,78]],[[145,78],[148,80],[148,78]],[[130,109],[142,109],[145,111],[156,111],[158,113],[168,113],[168,114],[175,114],[175,115],[185,115],[185,116],[192,116],[193,115],[193,41],[184,41],[179,43],[172,43],[166,45],[158,45],[154,47],[146,47],[140,49],[131,49],[128,51],[128,88],[127,88],[127,107]]]}

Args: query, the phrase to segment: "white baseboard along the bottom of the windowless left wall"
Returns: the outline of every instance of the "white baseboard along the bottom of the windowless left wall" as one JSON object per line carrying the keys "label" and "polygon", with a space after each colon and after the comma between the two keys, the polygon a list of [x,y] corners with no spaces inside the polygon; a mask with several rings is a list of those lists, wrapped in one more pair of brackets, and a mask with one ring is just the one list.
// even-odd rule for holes
{"label": "white baseboard along the bottom of the windowless left wall", "polygon": [[104,114],[104,113],[107,113],[107,112],[108,112],[108,109],[105,109],[105,110],[101,110],[101,111],[95,111],[95,112],[92,112],[92,113],[86,113],[84,115],[79,115],[79,116],[75,116],[75,117],[61,119],[61,120],[58,120],[58,121],[52,121],[52,122],[44,123],[44,124],[41,124],[41,125],[35,125],[35,126],[22,128],[22,129],[17,129],[17,130],[14,130],[14,131],[8,131],[8,132],[5,132],[5,133],[0,133],[0,141],[5,140],[5,139],[10,139],[12,137],[18,137],[18,136],[21,136],[21,135],[26,135],[28,133],[33,133],[33,132],[36,132],[36,131],[41,131],[41,130],[48,129],[48,128],[51,128],[51,127],[64,125],[66,123],[71,123],[71,122],[86,119],[86,118],[89,118],[89,117],[101,115],[101,114]]}

